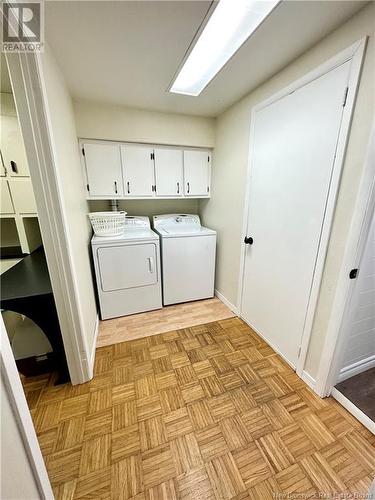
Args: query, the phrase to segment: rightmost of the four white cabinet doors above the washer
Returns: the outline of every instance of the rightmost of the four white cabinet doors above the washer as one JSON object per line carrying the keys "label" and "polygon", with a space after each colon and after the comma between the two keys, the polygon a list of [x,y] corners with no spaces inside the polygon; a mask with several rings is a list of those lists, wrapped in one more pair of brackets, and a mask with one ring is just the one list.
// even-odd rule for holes
{"label": "rightmost of the four white cabinet doors above the washer", "polygon": [[184,151],[185,196],[209,196],[210,165],[209,151]]}

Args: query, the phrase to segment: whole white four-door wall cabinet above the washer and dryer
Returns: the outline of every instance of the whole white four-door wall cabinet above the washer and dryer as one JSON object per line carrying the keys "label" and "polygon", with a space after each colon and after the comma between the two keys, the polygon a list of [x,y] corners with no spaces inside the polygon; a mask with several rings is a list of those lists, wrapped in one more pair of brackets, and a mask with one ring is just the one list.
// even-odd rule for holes
{"label": "whole white four-door wall cabinet above the washer and dryer", "polygon": [[83,142],[88,199],[209,198],[211,152]]}

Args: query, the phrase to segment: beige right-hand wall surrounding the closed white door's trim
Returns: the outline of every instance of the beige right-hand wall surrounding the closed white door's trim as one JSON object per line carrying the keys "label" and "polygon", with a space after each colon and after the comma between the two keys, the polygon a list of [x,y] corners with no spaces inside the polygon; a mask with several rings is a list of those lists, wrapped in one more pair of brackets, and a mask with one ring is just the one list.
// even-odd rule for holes
{"label": "beige right-hand wall surrounding the closed white door's trim", "polygon": [[306,370],[313,377],[316,376],[319,365],[374,116],[374,10],[374,3],[366,6],[339,29],[217,118],[212,197],[210,200],[199,202],[204,223],[218,230],[216,288],[230,302],[236,304],[251,109],[355,41],[366,35],[370,37],[308,351]]}

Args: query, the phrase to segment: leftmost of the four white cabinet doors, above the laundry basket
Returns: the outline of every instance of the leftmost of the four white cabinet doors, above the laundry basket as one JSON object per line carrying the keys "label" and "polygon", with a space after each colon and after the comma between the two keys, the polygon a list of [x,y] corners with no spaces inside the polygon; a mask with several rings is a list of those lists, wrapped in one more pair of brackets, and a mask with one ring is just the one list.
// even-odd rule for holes
{"label": "leftmost of the four white cabinet doors, above the laundry basket", "polygon": [[84,144],[83,148],[90,196],[122,197],[120,147],[116,144]]}

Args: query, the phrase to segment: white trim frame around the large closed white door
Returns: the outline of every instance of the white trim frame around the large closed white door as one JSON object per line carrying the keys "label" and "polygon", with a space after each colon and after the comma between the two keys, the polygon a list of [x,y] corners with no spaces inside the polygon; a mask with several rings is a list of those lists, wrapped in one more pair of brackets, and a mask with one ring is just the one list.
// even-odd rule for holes
{"label": "white trim frame around the large closed white door", "polygon": [[[240,315],[242,315],[242,302],[243,302],[243,288],[244,288],[244,273],[245,273],[245,246],[242,244],[248,227],[248,219],[249,219],[249,206],[250,206],[250,186],[251,186],[251,178],[252,178],[252,151],[254,149],[254,137],[255,137],[255,116],[258,111],[264,109],[267,106],[270,106],[274,102],[286,97],[287,95],[295,92],[299,88],[311,83],[313,80],[323,76],[329,71],[335,69],[338,66],[341,66],[345,62],[351,61],[350,72],[349,72],[349,81],[348,81],[348,91],[346,96],[343,95],[343,103],[344,98],[346,98],[346,103],[343,111],[343,116],[341,120],[340,132],[337,141],[336,147],[336,155],[332,169],[331,183],[326,203],[325,216],[323,220],[323,226],[321,231],[319,249],[317,253],[317,258],[315,261],[315,270],[313,276],[313,282],[310,290],[309,303],[306,311],[306,318],[304,329],[301,337],[301,345],[299,357],[297,360],[296,369],[297,375],[301,378],[304,374],[305,361],[307,356],[307,350],[309,346],[309,341],[311,337],[313,321],[316,311],[316,306],[319,297],[320,285],[323,277],[323,270],[325,265],[325,259],[328,249],[328,243],[331,235],[331,228],[333,222],[333,216],[336,206],[336,200],[338,195],[338,188],[341,179],[342,166],[344,163],[344,157],[346,152],[346,145],[349,138],[349,129],[351,125],[351,119],[354,110],[354,104],[357,96],[357,90],[359,85],[360,74],[362,70],[362,64],[365,54],[367,44],[367,37],[364,37],[346,49],[342,50],[335,56],[333,56],[328,61],[324,62],[314,70],[310,71],[303,77],[294,81],[287,87],[282,90],[276,92],[271,97],[265,99],[260,102],[256,106],[254,106],[251,110],[251,125],[250,125],[250,140],[249,140],[249,156],[248,156],[248,165],[247,165],[247,178],[245,184],[245,204],[244,204],[244,216],[243,216],[243,227],[242,227],[242,238],[241,238],[241,256],[240,256],[240,271],[239,271],[239,285],[238,285],[238,293],[237,293],[237,303],[238,308],[240,310]],[[243,318],[245,320],[245,318]],[[246,321],[246,320],[245,320]],[[249,326],[252,327],[251,324]],[[257,331],[257,333],[264,338],[262,332]],[[266,340],[266,339],[265,339]],[[277,351],[282,357],[283,354],[275,347],[271,346],[275,351]],[[287,361],[287,360],[286,360]],[[306,378],[306,377],[304,377]]]}

